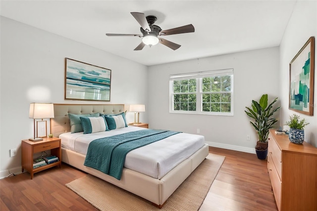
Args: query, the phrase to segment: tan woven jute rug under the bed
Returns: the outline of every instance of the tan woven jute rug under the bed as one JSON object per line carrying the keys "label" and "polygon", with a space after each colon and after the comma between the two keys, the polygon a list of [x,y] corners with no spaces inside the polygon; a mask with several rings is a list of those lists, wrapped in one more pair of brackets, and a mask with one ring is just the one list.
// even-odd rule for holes
{"label": "tan woven jute rug under the bed", "polygon": [[101,211],[198,211],[224,158],[209,154],[167,199],[161,209],[90,174],[66,186]]}

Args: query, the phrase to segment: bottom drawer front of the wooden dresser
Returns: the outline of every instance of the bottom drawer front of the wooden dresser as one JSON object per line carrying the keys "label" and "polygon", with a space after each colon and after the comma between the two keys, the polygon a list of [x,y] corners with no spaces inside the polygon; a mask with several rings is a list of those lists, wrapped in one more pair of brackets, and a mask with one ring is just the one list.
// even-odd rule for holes
{"label": "bottom drawer front of the wooden dresser", "polygon": [[276,168],[274,166],[274,163],[273,163],[273,160],[272,160],[272,157],[270,154],[267,156],[267,170],[268,170],[269,178],[271,180],[277,208],[278,208],[278,210],[281,210],[280,208],[281,208],[282,182],[278,176],[278,173],[276,171]]}

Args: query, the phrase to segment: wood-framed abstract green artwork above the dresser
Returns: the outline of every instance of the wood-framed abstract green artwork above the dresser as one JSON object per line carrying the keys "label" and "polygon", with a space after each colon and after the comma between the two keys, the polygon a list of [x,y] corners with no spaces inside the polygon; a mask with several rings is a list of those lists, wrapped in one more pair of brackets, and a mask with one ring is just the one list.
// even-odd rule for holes
{"label": "wood-framed abstract green artwork above the dresser", "polygon": [[289,109],[314,115],[315,37],[289,63]]}

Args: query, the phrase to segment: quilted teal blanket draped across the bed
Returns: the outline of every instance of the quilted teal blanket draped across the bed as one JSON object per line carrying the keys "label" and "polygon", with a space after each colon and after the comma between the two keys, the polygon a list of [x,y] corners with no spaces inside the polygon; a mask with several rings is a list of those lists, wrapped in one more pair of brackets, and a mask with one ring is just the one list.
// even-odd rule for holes
{"label": "quilted teal blanket draped across the bed", "polygon": [[169,130],[139,130],[92,141],[84,165],[98,169],[120,180],[126,155],[180,132]]}

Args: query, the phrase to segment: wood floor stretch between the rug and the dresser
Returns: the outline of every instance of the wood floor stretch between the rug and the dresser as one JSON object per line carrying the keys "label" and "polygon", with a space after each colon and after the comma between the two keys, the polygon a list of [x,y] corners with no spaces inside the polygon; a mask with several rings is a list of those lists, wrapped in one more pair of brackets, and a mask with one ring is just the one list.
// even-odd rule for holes
{"label": "wood floor stretch between the rug and the dresser", "polygon": [[266,160],[255,154],[209,149],[226,158],[200,211],[277,211]]}

